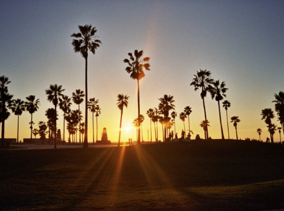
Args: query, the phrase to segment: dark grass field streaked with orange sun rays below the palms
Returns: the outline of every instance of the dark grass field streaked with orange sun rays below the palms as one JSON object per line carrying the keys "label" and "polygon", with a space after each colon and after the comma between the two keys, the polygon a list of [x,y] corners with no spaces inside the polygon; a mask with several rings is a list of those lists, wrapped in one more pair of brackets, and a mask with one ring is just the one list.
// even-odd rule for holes
{"label": "dark grass field streaked with orange sun rays below the palms", "polygon": [[241,141],[0,151],[1,210],[284,208],[284,147]]}

